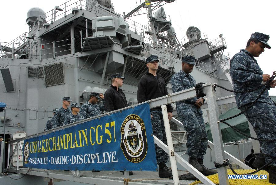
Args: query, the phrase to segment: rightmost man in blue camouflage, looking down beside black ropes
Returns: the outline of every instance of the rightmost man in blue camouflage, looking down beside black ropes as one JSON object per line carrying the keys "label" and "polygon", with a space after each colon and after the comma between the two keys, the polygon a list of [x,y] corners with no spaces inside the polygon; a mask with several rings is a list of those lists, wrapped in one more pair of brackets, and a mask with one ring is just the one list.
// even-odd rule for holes
{"label": "rightmost man in blue camouflage, looking down beside black ropes", "polygon": [[[264,52],[264,48],[270,49],[267,41],[269,35],[263,33],[252,33],[247,42],[246,48],[241,49],[240,53],[235,54],[230,61],[230,75],[232,77],[233,89],[236,91],[251,90],[259,87],[262,82],[270,79],[270,75],[263,74],[257,60]],[[275,67],[275,65],[274,65]],[[276,106],[268,95],[268,90],[274,88],[276,80],[270,83],[270,87],[265,90],[260,99],[244,113],[247,120],[252,124],[259,139],[276,138]],[[262,88],[263,89],[263,88]],[[243,111],[250,103],[253,102],[262,89],[255,90],[251,93],[235,93],[238,108]],[[260,141],[261,154],[253,163],[255,167],[261,167],[265,162],[276,156],[275,141]],[[270,164],[269,182],[276,183],[276,161]]]}

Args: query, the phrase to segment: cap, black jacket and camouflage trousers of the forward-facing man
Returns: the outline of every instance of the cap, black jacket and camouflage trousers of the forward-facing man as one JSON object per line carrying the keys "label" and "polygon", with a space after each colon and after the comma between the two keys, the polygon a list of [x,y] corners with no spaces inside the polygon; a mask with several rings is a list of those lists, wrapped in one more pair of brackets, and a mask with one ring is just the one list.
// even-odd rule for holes
{"label": "cap, black jacket and camouflage trousers of the forward-facing man", "polygon": [[[157,56],[151,56],[147,58],[147,62],[158,60]],[[168,95],[167,88],[164,80],[159,74],[154,76],[151,73],[146,73],[141,77],[138,85],[137,100],[138,103]],[[171,104],[167,105],[167,111],[172,112]],[[164,120],[161,107],[151,109],[151,125],[153,134],[167,145],[167,137],[165,132]],[[157,164],[161,162],[167,162],[169,156],[159,146],[155,144],[155,153]]]}

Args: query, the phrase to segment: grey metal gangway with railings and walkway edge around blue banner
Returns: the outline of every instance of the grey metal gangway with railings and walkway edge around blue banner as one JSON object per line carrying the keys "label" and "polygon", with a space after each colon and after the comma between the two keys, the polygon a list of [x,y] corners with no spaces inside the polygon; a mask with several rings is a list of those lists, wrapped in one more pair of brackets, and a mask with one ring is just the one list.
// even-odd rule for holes
{"label": "grey metal gangway with railings and walkway edge around blue banner", "polygon": [[[234,156],[232,156],[231,154],[229,154],[228,152],[225,152],[223,150],[222,136],[221,136],[221,132],[220,132],[220,124],[218,124],[218,120],[219,120],[218,112],[217,112],[218,104],[217,104],[217,100],[216,100],[216,96],[215,96],[214,85],[212,83],[204,84],[203,90],[206,93],[207,105],[205,104],[204,107],[208,106],[208,109],[209,109],[209,122],[210,122],[211,132],[212,132],[213,136],[216,136],[213,138],[214,139],[213,143],[209,141],[208,144],[215,150],[216,162],[224,163],[224,159],[228,158],[228,159],[230,159],[230,161],[238,164],[240,167],[242,167],[244,169],[252,169],[251,167],[248,167],[246,164],[241,162],[239,159],[235,158]],[[125,183],[127,183],[129,185],[131,185],[131,184],[133,184],[133,185],[134,184],[135,185],[136,184],[152,184],[152,183],[154,183],[154,184],[189,184],[189,183],[191,183],[191,181],[182,181],[182,180],[178,179],[178,175],[182,175],[183,171],[177,171],[177,166],[176,166],[176,162],[177,162],[179,165],[183,166],[191,174],[193,174],[195,177],[197,177],[197,179],[199,179],[202,183],[214,185],[214,183],[211,180],[209,180],[207,177],[205,177],[203,174],[201,174],[199,171],[197,171],[185,159],[183,159],[180,155],[178,155],[174,151],[172,137],[171,137],[171,134],[169,134],[169,133],[171,133],[171,130],[170,130],[169,120],[167,117],[166,104],[190,99],[193,97],[196,97],[195,87],[148,101],[150,108],[155,108],[155,107],[159,107],[159,106],[162,107],[168,145],[165,145],[157,137],[155,137],[155,136],[153,136],[153,137],[154,137],[155,144],[157,144],[160,148],[162,148],[170,156],[170,163],[171,163],[173,177],[174,177],[173,180],[163,179],[163,178],[155,179],[156,177],[158,177],[158,173],[157,172],[148,172],[148,171],[146,171],[146,172],[145,171],[134,171],[133,176],[128,176],[128,173],[125,173],[124,178],[122,178],[122,177],[118,177],[119,172],[114,172],[114,171],[101,171],[101,172],[98,172],[98,174],[96,174],[91,171],[78,171],[78,170],[77,171],[60,171],[60,170],[47,170],[47,169],[34,169],[34,168],[28,169],[28,168],[19,167],[18,165],[17,165],[17,167],[12,167],[11,163],[9,163],[7,171],[15,172],[15,173],[22,173],[22,174],[28,173],[28,175],[36,175],[36,176],[41,176],[44,178],[52,178],[54,180],[61,179],[61,180],[68,180],[68,181],[89,183],[89,184],[99,184],[99,185],[100,184],[102,184],[102,185],[125,184]],[[233,98],[233,97],[231,96],[230,98]],[[221,98],[221,101],[224,101],[224,99]],[[146,103],[146,102],[144,102],[144,103]],[[144,103],[140,103],[140,104],[144,104]],[[132,105],[132,106],[129,106],[126,108],[116,110],[116,111],[112,111],[112,112],[108,112],[108,113],[105,113],[102,115],[94,116],[92,118],[76,122],[74,124],[72,123],[72,124],[64,125],[63,127],[54,128],[52,130],[48,130],[47,133],[56,132],[56,131],[62,130],[64,128],[74,127],[74,125],[85,123],[88,120],[99,119],[99,118],[101,118],[103,116],[107,116],[111,113],[116,113],[116,112],[120,112],[120,111],[123,111],[126,109],[130,109],[130,108],[133,108],[140,104]],[[182,126],[182,123],[179,122],[178,120],[173,118],[172,121],[174,123]],[[43,136],[45,134],[46,134],[46,132],[41,132],[41,133],[35,134],[35,136]],[[13,141],[10,141],[9,144],[16,143],[16,148],[14,151],[16,151],[16,150],[23,151],[20,141],[24,140],[24,139],[29,139],[31,137],[32,136],[27,136],[23,139],[13,140]],[[13,156],[11,157],[11,160],[14,157],[14,154],[15,154],[14,151],[13,151]],[[228,185],[229,181],[228,181],[226,167],[218,168],[217,172],[218,172],[220,184]],[[120,173],[120,175],[121,175],[121,173]]]}

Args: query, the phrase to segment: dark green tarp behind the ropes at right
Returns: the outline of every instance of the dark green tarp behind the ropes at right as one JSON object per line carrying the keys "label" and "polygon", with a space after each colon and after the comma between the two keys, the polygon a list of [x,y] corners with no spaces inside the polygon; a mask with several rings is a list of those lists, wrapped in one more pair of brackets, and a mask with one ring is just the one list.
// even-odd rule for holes
{"label": "dark green tarp behind the ropes at right", "polygon": [[[270,96],[274,102],[276,102],[276,96]],[[240,113],[240,110],[237,107],[231,108],[228,111],[224,112],[219,116],[219,119],[224,119],[228,118],[230,116],[234,116],[236,114]],[[239,129],[240,131],[246,133],[247,135],[250,135],[249,127],[248,127],[248,121],[246,117],[242,114],[240,116],[237,116],[235,118],[232,118],[230,120],[225,121],[235,128]],[[207,134],[208,134],[208,139],[213,142],[211,130],[210,130],[210,125],[206,124],[205,125]],[[227,126],[224,123],[220,123],[220,128],[221,128],[221,134],[222,134],[222,141],[224,143],[227,142],[232,142],[240,139],[245,139],[247,138],[246,136],[241,135],[240,133],[234,131],[232,128]]]}

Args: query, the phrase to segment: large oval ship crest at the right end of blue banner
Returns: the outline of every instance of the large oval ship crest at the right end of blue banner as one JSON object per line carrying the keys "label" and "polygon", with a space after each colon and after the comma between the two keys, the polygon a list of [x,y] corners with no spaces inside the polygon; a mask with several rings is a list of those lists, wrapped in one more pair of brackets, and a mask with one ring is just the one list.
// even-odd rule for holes
{"label": "large oval ship crest at the right end of blue banner", "polygon": [[133,163],[144,160],[148,150],[144,121],[137,115],[128,115],[121,126],[121,149]]}

